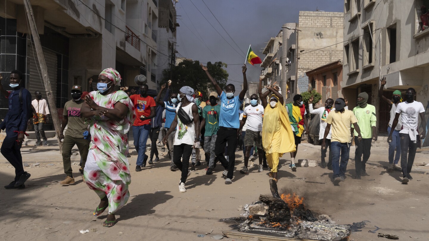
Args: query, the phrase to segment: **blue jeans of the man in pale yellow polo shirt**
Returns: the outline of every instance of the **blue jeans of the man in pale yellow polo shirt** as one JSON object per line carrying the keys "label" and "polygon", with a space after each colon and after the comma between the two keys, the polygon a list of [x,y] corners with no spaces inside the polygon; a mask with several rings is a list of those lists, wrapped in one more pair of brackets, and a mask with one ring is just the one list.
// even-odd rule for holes
{"label": "blue jeans of the man in pale yellow polo shirt", "polygon": [[332,151],[332,170],[334,171],[332,178],[344,177],[349,159],[350,143],[331,142],[331,150],[329,151]]}

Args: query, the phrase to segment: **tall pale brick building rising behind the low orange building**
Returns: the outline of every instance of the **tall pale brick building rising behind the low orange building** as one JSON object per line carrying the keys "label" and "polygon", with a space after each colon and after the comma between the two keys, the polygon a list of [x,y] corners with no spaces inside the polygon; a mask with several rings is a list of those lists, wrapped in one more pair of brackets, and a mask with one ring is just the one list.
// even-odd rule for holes
{"label": "tall pale brick building rising behind the low orange building", "polygon": [[[300,11],[299,21],[283,25],[281,80],[287,102],[308,90],[306,72],[342,59],[342,12]],[[288,62],[290,61],[290,62]]]}

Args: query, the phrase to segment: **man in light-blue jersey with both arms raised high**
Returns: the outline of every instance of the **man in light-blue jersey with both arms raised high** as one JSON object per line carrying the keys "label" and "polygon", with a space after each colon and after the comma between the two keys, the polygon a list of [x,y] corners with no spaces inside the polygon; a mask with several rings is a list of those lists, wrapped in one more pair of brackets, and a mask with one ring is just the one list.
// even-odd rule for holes
{"label": "man in light-blue jersey with both arms raised high", "polygon": [[[236,88],[233,84],[228,84],[225,87],[225,92],[222,91],[218,83],[211,77],[208,72],[208,68],[201,64],[202,70],[207,74],[208,79],[211,81],[216,89],[216,92],[221,99],[221,113],[219,114],[219,130],[218,138],[215,144],[215,154],[218,160],[224,166],[225,170],[222,177],[225,179],[225,184],[232,184],[231,179],[233,178],[234,164],[236,162],[236,145],[237,136],[240,128],[239,121],[239,110],[243,104],[244,96],[247,92],[247,78],[246,70],[247,67],[242,67],[243,72],[243,90],[238,96],[234,96]],[[229,161],[224,156],[225,146],[228,145],[228,156]]]}

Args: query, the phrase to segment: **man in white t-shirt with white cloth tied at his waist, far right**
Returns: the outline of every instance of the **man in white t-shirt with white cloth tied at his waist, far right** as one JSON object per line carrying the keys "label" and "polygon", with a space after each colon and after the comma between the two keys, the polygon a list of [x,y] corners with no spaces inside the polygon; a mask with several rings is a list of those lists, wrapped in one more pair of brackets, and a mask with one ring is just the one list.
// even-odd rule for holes
{"label": "man in white t-shirt with white cloth tied at his waist, far right", "polygon": [[[414,100],[416,97],[416,90],[408,88],[405,92],[407,101],[399,103],[396,108],[395,119],[393,120],[392,126],[396,127],[399,121],[399,117],[402,120],[402,130],[399,131],[401,139],[401,168],[402,168],[402,183],[407,184],[409,180],[413,180],[410,175],[411,167],[414,163],[414,157],[417,150],[417,141],[419,139],[425,139],[426,137],[426,120],[425,120],[425,108],[421,102]],[[421,125],[423,132],[418,133],[419,115],[421,119]],[[389,138],[387,142],[392,142],[393,130],[390,130]],[[409,152],[408,152],[409,151]],[[408,152],[408,160],[407,160]]]}

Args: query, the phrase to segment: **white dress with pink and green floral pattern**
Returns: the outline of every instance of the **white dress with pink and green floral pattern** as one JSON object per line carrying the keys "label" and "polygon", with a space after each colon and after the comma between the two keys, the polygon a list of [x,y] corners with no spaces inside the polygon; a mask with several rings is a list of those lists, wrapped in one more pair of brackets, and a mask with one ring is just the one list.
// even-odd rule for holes
{"label": "white dress with pink and green floral pattern", "polygon": [[131,183],[131,175],[127,160],[127,133],[136,114],[131,99],[122,90],[106,96],[99,91],[92,91],[89,96],[97,105],[105,108],[113,109],[117,102],[128,107],[124,120],[119,122],[99,116],[86,120],[90,125],[91,144],[84,170],[85,182],[100,199],[107,196],[109,214],[115,214],[130,197],[128,185]]}

